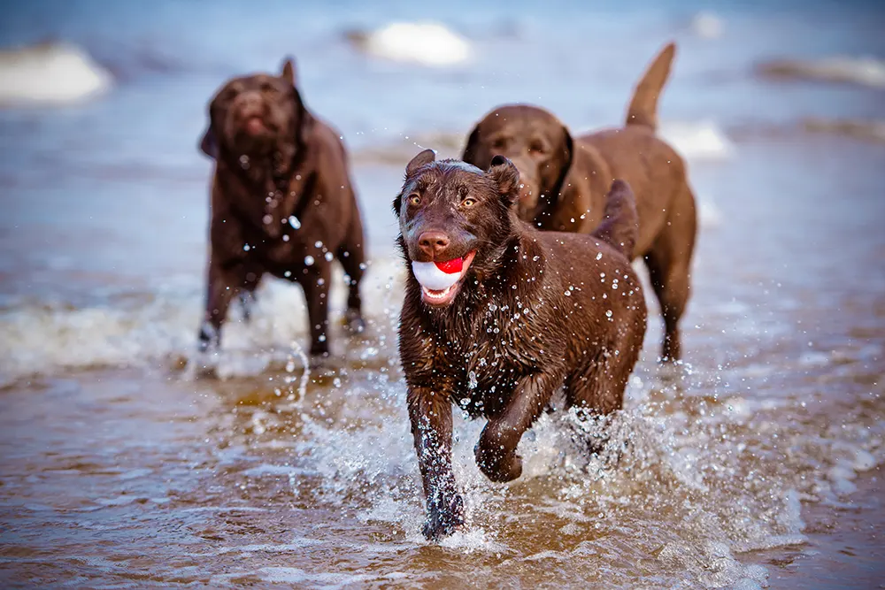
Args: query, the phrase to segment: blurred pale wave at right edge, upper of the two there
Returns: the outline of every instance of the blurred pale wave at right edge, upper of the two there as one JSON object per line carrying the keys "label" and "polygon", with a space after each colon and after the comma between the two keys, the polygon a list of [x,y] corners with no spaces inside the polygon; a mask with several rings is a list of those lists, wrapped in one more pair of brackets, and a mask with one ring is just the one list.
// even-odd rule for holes
{"label": "blurred pale wave at right edge, upper of the two there", "polygon": [[819,60],[773,59],[757,65],[766,77],[786,80],[816,80],[885,88],[885,60],[875,57],[825,57]]}

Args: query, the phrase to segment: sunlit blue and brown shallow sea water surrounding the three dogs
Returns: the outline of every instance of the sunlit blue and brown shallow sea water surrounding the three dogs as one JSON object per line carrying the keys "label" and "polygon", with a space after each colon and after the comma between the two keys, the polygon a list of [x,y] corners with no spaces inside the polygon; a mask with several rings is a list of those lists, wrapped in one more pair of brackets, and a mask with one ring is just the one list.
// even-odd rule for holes
{"label": "sunlit blue and brown shallow sea water surrounding the three dogs", "polygon": [[[795,125],[881,118],[881,90],[751,72],[763,57],[881,56],[881,39],[864,34],[878,12],[723,9],[722,37],[701,39],[683,7],[486,8],[473,19],[397,8],[443,19],[478,47],[478,63],[439,73],[350,50],[342,31],[386,22],[367,8],[304,9],[303,34],[263,34],[267,19],[300,22],[287,6],[219,15],[168,3],[150,18],[101,19],[58,8],[50,25],[21,8],[4,20],[10,42],[58,34],[119,79],[96,103],[0,113],[4,586],[752,588],[820,560],[821,586],[879,583],[870,556],[815,539],[821,523],[881,512],[871,482],[885,460],[885,146]],[[138,34],[112,32],[114,18]],[[212,34],[233,34],[234,22],[237,51]],[[181,31],[193,35],[170,50]],[[610,452],[589,458],[573,441],[601,426],[545,417],[509,485],[481,475],[482,424],[458,418],[467,527],[428,544],[396,357],[403,270],[389,202],[405,158],[415,142],[453,153],[504,100],[539,100],[574,129],[615,122],[671,36],[682,50],[662,117],[678,123],[673,141],[695,148],[703,211],[687,364],[658,366],[652,314],[625,410],[607,425]],[[285,51],[301,60],[308,101],[353,147],[370,226],[371,330],[335,333],[335,366],[321,374],[304,372],[303,298],[281,283],[262,288],[249,325],[235,310],[219,356],[195,352],[204,99],[227,73],[272,67]]]}

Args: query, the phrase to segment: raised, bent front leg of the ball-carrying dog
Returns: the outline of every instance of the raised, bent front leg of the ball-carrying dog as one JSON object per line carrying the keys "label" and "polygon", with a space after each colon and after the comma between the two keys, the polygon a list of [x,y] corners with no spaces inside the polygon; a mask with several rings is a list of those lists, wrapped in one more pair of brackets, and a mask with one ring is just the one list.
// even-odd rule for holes
{"label": "raised, bent front leg of the ball-carrying dog", "polygon": [[534,373],[519,379],[510,401],[489,418],[474,448],[476,464],[486,477],[504,482],[522,474],[522,458],[516,454],[519,441],[541,415],[562,381],[561,376],[551,372]]}

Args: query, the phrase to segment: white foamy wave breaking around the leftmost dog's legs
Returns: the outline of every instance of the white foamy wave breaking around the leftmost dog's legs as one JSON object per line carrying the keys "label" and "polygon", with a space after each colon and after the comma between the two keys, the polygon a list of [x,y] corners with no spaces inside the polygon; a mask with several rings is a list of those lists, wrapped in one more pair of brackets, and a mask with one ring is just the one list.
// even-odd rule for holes
{"label": "white foamy wave breaking around the leftmost dog's legs", "polygon": [[[391,297],[401,296],[394,288],[401,267],[396,257],[370,264],[363,295],[370,328],[394,321],[390,314],[398,313],[399,307]],[[335,322],[346,307],[343,273],[337,266],[333,280],[331,318]],[[36,374],[157,364],[200,366],[222,379],[255,375],[287,364],[292,350],[307,341],[304,295],[297,285],[264,281],[248,323],[239,306],[232,304],[222,350],[212,355],[196,352],[202,306],[202,285],[196,283],[156,293],[127,293],[91,306],[6,305],[0,311],[0,387]],[[333,329],[333,338],[333,349],[345,349],[339,331]],[[371,347],[347,354],[351,352],[377,354]]]}

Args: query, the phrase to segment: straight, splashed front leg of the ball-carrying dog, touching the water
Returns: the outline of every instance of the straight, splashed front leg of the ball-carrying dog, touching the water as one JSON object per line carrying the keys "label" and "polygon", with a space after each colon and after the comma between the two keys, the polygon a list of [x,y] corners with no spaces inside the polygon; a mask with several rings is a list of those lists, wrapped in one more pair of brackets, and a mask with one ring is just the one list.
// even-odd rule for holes
{"label": "straight, splashed front leg of the ball-carrying dog, touching the water", "polygon": [[451,402],[443,391],[410,387],[409,418],[427,496],[424,536],[438,540],[464,525],[464,501],[451,470]]}

